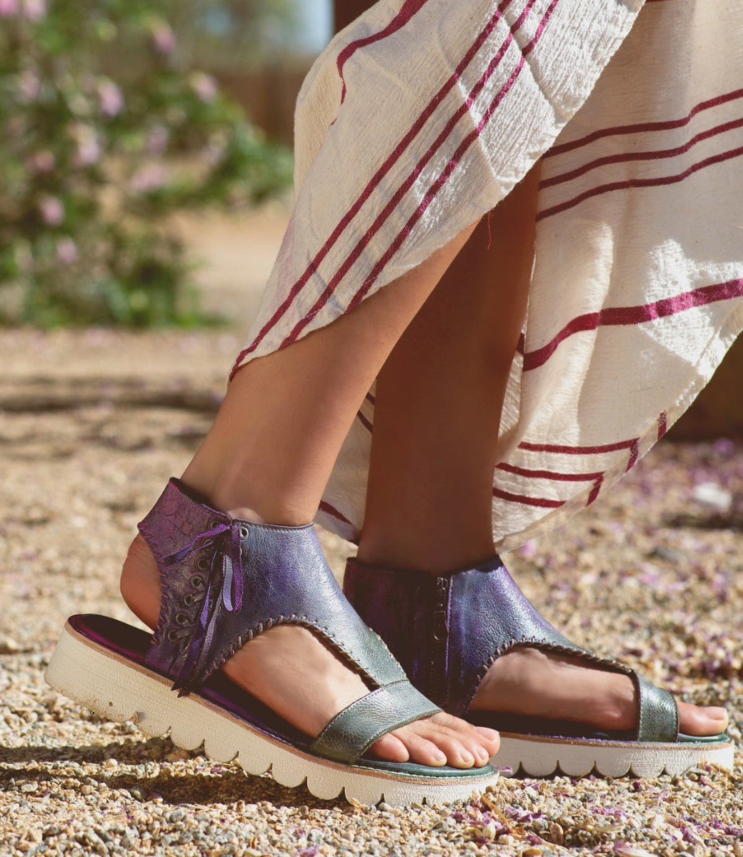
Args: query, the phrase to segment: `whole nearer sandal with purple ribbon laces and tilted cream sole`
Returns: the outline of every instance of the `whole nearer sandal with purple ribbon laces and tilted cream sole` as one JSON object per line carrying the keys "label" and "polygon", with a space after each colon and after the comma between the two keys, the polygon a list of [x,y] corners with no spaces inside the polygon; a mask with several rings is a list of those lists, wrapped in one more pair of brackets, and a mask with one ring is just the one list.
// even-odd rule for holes
{"label": "whole nearer sandal with purple ribbon laces and tilted cream sole", "polygon": [[[218,762],[239,758],[315,796],[376,804],[446,802],[497,779],[489,765],[459,770],[365,755],[392,729],[440,709],[410,685],[380,638],[343,596],[313,524],[233,520],[171,479],[140,531],[158,561],[162,602],[152,635],[99,615],[70,617],[46,670],[57,691],[108,720],[169,729]],[[312,740],[219,672],[269,628],[307,627],[363,675],[369,694]],[[177,691],[173,692],[173,691]]]}

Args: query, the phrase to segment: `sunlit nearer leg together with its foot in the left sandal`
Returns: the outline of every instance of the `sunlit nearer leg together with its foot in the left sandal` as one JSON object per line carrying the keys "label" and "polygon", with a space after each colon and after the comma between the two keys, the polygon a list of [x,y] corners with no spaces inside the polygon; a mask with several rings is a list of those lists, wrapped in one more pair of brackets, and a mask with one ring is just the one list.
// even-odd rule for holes
{"label": "sunlit nearer leg together with its foot in the left sandal", "polygon": [[[288,525],[311,520],[374,376],[470,231],[354,312],[241,369],[183,482],[232,517]],[[129,551],[122,593],[154,626],[159,576],[141,538]],[[225,672],[307,734],[367,692],[315,636],[291,626],[261,634]],[[494,746],[491,730],[437,715],[386,735],[375,750],[397,761],[467,767],[484,764]]]}

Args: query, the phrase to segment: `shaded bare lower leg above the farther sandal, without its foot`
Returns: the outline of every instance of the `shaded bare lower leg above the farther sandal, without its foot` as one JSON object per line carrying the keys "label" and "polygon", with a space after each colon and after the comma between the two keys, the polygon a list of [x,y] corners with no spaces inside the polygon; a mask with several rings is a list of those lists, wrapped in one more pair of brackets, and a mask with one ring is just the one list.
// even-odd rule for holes
{"label": "shaded bare lower leg above the farther sandal, without its foot", "polygon": [[360,560],[444,572],[494,554],[495,442],[538,181],[534,170],[481,221],[380,372]]}

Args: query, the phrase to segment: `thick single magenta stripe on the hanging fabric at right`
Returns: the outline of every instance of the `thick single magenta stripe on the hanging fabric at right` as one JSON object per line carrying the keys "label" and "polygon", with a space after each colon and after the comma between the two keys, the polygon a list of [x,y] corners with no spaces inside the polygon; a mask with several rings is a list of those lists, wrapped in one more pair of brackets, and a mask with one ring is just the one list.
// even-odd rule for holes
{"label": "thick single magenta stripe on the hanging fabric at right", "polygon": [[598,327],[626,327],[643,324],[647,321],[677,315],[694,307],[704,307],[710,303],[729,301],[743,295],[743,279],[733,279],[728,283],[704,285],[692,291],[685,291],[674,297],[664,297],[653,303],[638,304],[633,307],[607,307],[597,313],[578,315],[562,328],[554,339],[536,351],[524,355],[524,372],[538,369],[547,363],[561,343],[576,333],[587,333]]}

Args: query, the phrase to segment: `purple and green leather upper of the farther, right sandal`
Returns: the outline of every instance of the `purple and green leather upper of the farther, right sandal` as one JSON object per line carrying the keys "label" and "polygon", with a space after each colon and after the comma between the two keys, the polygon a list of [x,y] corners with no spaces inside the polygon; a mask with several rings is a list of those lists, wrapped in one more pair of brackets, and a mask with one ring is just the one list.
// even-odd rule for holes
{"label": "purple and green leather upper of the farther, right sandal", "polygon": [[466,715],[496,658],[518,646],[578,656],[628,675],[637,690],[639,741],[675,741],[673,696],[618,661],[573,644],[536,610],[495,556],[475,568],[428,572],[346,565],[344,590],[412,683],[442,709]]}

